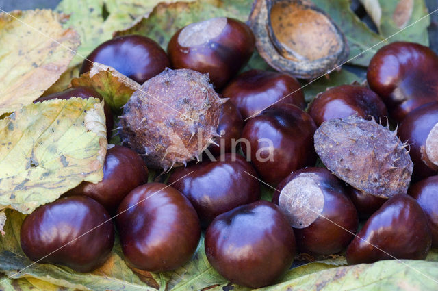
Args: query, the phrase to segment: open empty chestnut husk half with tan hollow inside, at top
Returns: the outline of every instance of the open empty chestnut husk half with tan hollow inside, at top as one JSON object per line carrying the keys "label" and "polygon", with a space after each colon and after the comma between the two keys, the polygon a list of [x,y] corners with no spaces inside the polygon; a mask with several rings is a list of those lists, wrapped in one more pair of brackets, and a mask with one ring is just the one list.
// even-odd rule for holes
{"label": "open empty chestnut husk half with tan hollow inside, at top", "polygon": [[256,0],[248,25],[261,57],[298,78],[319,77],[348,57],[341,29],[310,1]]}

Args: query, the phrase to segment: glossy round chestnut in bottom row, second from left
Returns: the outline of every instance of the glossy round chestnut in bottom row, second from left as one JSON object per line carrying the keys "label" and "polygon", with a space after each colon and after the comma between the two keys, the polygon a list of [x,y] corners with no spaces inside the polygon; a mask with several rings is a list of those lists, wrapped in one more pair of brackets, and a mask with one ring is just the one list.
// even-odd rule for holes
{"label": "glossy round chestnut in bottom row, second from left", "polygon": [[151,272],[174,270],[188,262],[201,237],[190,201],[160,183],[132,190],[118,207],[116,224],[127,263]]}

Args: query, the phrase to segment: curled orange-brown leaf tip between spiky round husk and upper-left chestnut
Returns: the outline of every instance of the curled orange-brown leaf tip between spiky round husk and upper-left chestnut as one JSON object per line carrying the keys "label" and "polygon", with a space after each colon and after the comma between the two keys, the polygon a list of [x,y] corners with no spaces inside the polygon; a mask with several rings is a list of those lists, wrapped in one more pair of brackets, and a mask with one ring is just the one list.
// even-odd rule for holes
{"label": "curled orange-brown leaf tip between spiky round husk and upper-left chestnut", "polygon": [[103,96],[105,102],[114,112],[120,112],[134,91],[141,88],[140,84],[119,73],[110,66],[94,62],[88,73],[71,80],[73,87],[92,87]]}

